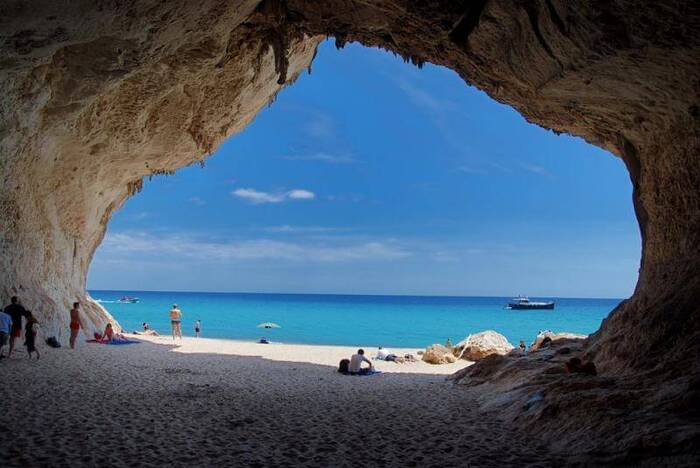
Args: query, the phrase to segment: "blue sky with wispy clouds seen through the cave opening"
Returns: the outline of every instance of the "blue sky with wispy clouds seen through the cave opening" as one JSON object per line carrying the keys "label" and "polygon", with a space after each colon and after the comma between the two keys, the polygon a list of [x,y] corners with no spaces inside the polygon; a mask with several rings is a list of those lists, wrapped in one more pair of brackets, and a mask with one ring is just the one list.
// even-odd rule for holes
{"label": "blue sky with wispy clouds seen through the cave opening", "polygon": [[627,297],[622,162],[454,72],[319,49],[204,168],[115,214],[91,289]]}

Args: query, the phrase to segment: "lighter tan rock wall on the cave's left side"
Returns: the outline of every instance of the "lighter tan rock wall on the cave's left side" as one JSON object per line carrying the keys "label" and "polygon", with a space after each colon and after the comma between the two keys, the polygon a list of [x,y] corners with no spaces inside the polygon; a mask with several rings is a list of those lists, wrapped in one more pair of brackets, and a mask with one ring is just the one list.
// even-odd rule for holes
{"label": "lighter tan rock wall on the cave's left side", "polygon": [[282,46],[246,24],[257,2],[166,3],[0,6],[0,301],[46,335],[66,339],[76,300],[88,333],[114,321],[85,291],[112,213],[245,127],[320,40]]}

